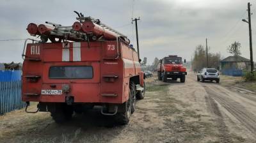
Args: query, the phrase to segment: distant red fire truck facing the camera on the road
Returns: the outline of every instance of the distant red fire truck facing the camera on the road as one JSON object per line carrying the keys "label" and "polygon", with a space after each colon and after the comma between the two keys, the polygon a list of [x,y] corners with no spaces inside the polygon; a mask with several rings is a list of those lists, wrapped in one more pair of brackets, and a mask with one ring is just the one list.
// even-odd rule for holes
{"label": "distant red fire truck facing the camera on the road", "polygon": [[[186,59],[184,59],[184,63],[186,63]],[[157,66],[157,77],[163,82],[166,82],[167,78],[172,78],[172,80],[179,78],[180,82],[185,82],[185,75],[187,72],[186,67],[182,65],[182,57],[164,57]]]}

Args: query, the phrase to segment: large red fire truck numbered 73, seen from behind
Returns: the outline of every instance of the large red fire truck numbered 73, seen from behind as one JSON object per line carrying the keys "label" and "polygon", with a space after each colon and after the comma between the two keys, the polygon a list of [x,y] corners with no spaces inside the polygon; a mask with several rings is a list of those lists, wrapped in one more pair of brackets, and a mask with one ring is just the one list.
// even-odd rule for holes
{"label": "large red fire truck numbered 73, seen from behind", "polygon": [[99,105],[102,114],[127,124],[136,99],[145,94],[138,53],[124,34],[99,19],[77,15],[73,26],[28,25],[28,33],[41,40],[28,39],[24,44],[26,112],[31,112],[29,102],[38,102],[35,112],[51,112],[52,119],[61,123],[74,112]]}

